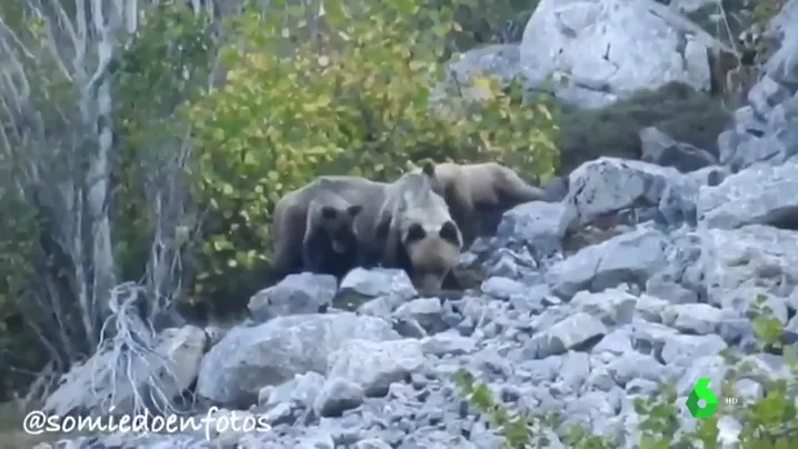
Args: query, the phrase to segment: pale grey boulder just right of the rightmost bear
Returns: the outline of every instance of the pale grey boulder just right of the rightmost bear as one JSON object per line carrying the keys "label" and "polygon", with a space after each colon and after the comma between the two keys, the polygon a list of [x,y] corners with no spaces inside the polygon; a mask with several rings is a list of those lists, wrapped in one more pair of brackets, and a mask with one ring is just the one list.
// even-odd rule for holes
{"label": "pale grey boulder just right of the rightmost bear", "polygon": [[[624,209],[656,210],[666,193],[676,194],[684,183],[684,176],[671,167],[605,157],[571,172],[563,201],[571,209],[569,213],[576,216],[573,227]],[[685,199],[682,209],[689,206]]]}

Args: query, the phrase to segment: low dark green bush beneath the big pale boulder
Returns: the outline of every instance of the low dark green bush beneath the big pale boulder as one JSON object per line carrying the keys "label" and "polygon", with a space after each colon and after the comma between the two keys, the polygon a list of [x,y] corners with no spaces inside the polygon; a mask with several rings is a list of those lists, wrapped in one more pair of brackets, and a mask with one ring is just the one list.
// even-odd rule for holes
{"label": "low dark green bush beneath the big pale boulder", "polygon": [[560,122],[560,172],[601,156],[640,159],[639,132],[652,126],[717,156],[718,134],[730,117],[719,101],[679,82],[639,91],[601,109],[571,109]]}

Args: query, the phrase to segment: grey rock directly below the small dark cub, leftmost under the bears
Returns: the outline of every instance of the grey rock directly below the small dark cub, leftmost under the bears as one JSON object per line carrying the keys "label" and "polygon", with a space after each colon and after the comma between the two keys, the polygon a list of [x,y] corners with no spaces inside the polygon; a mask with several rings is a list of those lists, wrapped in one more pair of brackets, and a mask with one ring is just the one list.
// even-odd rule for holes
{"label": "grey rock directly below the small dark cub, leftmost under the bears", "polygon": [[332,305],[337,290],[338,281],[330,275],[289,275],[256,293],[247,307],[261,322],[285,315],[319,313]]}

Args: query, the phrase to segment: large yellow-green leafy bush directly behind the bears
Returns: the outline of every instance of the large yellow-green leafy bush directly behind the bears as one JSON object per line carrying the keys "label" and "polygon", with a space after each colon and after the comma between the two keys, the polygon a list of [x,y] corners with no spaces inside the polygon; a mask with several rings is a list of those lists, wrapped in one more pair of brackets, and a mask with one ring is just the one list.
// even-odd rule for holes
{"label": "large yellow-green leafy bush directly behind the bears", "polygon": [[[488,92],[479,107],[431,112],[446,38],[461,29],[450,8],[351,3],[326,3],[316,31],[302,28],[306,11],[293,7],[269,19],[236,17],[229,27],[241,40],[222,51],[226,86],[184,109],[199,151],[197,193],[210,217],[198,297],[237,308],[262,287],[275,203],[319,174],[390,180],[406,161],[426,158],[553,171],[555,118],[495,80],[477,81]],[[283,29],[285,17],[310,39]]]}

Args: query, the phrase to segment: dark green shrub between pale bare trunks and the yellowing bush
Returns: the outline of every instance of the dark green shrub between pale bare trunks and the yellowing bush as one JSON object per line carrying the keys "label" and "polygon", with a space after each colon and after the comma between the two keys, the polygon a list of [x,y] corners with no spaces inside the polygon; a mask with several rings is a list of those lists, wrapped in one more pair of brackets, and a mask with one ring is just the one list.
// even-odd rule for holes
{"label": "dark green shrub between pale bare trunks and the yellowing bush", "polygon": [[181,2],[149,7],[141,21],[120,54],[113,84],[119,132],[111,218],[122,279],[144,276],[156,220],[147,194],[158,181],[151,176],[153,166],[172,162],[172,149],[186,133],[173,116],[207,86],[216,52],[210,17],[194,14]]}

